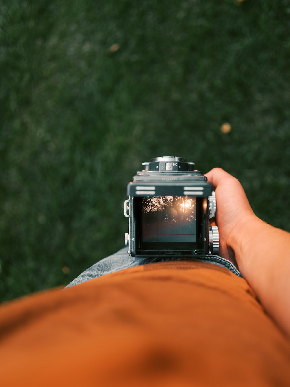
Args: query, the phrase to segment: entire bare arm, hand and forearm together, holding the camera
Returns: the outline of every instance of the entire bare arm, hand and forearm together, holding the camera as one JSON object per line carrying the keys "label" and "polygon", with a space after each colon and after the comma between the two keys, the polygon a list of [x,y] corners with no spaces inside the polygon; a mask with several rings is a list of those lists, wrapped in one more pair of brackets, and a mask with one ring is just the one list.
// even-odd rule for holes
{"label": "entire bare arm, hand and forearm together, holding the camera", "polygon": [[241,183],[220,168],[206,174],[217,197],[219,255],[239,267],[269,315],[290,337],[290,233],[259,219]]}

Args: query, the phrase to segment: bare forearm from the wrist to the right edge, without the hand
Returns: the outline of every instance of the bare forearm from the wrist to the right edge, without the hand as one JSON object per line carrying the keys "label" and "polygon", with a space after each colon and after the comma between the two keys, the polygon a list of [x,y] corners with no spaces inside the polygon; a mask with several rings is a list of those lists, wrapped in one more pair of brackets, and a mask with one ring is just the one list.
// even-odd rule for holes
{"label": "bare forearm from the wrist to the right edge, without the hand", "polygon": [[290,234],[252,215],[244,219],[239,235],[232,234],[229,245],[242,276],[290,337]]}

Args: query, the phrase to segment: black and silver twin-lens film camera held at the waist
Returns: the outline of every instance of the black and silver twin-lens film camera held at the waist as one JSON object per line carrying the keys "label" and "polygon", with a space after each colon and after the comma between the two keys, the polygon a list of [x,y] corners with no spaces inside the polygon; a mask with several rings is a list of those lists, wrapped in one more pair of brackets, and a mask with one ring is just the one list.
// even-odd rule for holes
{"label": "black and silver twin-lens film camera held at the waist", "polygon": [[125,245],[132,257],[218,254],[215,193],[194,163],[157,157],[143,163],[127,186]]}

